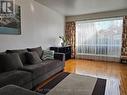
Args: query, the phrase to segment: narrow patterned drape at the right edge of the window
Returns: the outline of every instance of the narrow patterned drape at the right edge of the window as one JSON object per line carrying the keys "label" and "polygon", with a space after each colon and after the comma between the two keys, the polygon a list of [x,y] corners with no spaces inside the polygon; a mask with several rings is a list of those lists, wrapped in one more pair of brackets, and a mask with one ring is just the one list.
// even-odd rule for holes
{"label": "narrow patterned drape at the right edge of the window", "polygon": [[127,56],[127,16],[123,20],[122,52],[121,56]]}

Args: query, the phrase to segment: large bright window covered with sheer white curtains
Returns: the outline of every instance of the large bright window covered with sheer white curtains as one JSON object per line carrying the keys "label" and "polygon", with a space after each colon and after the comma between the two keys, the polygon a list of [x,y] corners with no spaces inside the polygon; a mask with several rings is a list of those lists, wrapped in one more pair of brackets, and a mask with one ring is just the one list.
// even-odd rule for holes
{"label": "large bright window covered with sheer white curtains", "polygon": [[122,17],[77,21],[77,54],[120,57],[122,27]]}

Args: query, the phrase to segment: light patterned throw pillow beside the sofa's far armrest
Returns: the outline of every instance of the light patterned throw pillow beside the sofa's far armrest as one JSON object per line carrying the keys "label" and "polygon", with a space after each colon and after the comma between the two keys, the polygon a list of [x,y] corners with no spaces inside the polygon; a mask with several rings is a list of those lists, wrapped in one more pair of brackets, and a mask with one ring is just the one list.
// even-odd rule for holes
{"label": "light patterned throw pillow beside the sofa's far armrest", "polygon": [[44,50],[41,59],[42,60],[54,59],[54,51]]}

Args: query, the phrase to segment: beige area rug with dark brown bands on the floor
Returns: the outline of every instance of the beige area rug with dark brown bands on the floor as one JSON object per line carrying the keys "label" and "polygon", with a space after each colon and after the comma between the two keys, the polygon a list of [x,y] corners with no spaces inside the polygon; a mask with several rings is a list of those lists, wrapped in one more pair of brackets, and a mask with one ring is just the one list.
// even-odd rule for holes
{"label": "beige area rug with dark brown bands on the floor", "polygon": [[45,95],[105,95],[106,80],[62,72],[40,88]]}

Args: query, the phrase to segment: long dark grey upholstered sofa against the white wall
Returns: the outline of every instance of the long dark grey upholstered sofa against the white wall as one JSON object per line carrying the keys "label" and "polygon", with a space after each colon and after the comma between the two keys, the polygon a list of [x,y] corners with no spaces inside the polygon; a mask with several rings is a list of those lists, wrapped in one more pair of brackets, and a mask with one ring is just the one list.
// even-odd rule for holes
{"label": "long dark grey upholstered sofa against the white wall", "polygon": [[[30,58],[26,53],[36,52],[39,58],[43,55],[41,47],[7,50],[0,53],[0,88],[6,85],[17,85],[23,88],[32,89],[42,81],[64,69],[65,55],[55,53],[54,59],[41,60],[34,55]],[[30,61],[35,63],[30,63]],[[38,61],[39,60],[39,61]]]}

